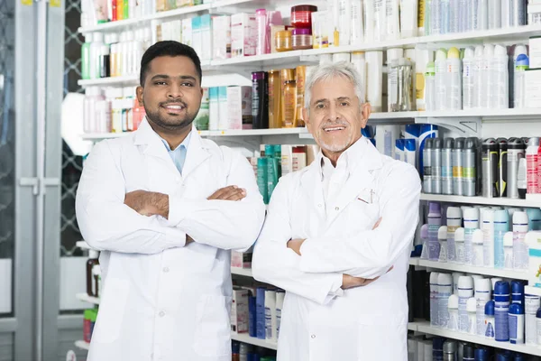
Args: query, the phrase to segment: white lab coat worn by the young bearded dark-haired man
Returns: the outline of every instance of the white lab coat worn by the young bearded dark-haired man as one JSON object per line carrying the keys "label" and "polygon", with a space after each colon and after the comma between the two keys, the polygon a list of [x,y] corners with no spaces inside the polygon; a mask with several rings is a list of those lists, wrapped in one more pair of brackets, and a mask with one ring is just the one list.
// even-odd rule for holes
{"label": "white lab coat worn by the young bearded dark-haired man", "polygon": [[[206,200],[228,185],[247,197]],[[169,219],[125,206],[133,190],[169,194]],[[195,128],[182,175],[146,120],[133,134],[96,144],[77,194],[81,233],[103,251],[88,360],[230,361],[229,250],[252,245],[264,214],[250,163]],[[187,234],[196,243],[185,246]]]}

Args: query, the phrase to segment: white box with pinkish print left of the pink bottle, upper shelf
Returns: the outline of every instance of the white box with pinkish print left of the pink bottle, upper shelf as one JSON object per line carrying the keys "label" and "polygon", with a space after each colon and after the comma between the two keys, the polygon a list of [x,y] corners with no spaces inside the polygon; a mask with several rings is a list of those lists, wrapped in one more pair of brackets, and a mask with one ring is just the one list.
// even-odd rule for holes
{"label": "white box with pinkish print left of the pink bottle, upper shelf", "polygon": [[257,23],[255,14],[231,15],[231,57],[255,55]]}

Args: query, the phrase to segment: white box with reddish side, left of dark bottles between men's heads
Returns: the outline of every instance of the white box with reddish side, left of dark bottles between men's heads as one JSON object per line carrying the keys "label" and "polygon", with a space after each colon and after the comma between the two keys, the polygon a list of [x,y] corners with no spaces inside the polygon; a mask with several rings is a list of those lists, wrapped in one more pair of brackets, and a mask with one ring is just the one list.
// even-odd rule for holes
{"label": "white box with reddish side, left of dark bottles between men's heads", "polygon": [[252,129],[252,87],[227,88],[227,129]]}

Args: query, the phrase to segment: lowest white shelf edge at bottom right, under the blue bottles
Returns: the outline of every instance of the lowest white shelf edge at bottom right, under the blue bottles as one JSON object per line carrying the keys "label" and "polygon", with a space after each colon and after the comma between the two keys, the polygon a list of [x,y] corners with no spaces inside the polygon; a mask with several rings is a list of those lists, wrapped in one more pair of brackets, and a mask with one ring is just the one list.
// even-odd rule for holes
{"label": "lowest white shelf edge at bottom right, under the blue bottles", "polygon": [[497,342],[491,338],[484,338],[482,336],[470,335],[468,333],[462,333],[457,331],[450,331],[448,329],[436,329],[430,326],[430,322],[421,321],[421,322],[411,322],[408,324],[408,329],[412,331],[417,331],[419,333],[424,333],[427,335],[434,335],[443,338],[453,338],[465,342],[471,342],[477,345],[484,345],[488,347],[496,347],[509,349],[510,351],[520,352],[527,355],[536,355],[541,356],[541,347],[529,346],[529,345],[514,345],[510,342]]}

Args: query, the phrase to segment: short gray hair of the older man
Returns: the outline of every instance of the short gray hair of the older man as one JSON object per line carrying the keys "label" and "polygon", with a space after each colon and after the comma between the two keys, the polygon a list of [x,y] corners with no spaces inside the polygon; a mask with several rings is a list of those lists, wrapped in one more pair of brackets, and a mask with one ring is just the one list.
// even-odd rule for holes
{"label": "short gray hair of the older man", "polygon": [[305,107],[310,110],[310,100],[312,97],[312,88],[318,81],[326,81],[335,78],[345,78],[352,82],[355,88],[355,95],[359,98],[359,105],[364,103],[361,74],[355,69],[351,62],[339,61],[335,63],[325,62],[316,65],[307,71],[307,81],[305,84]]}

